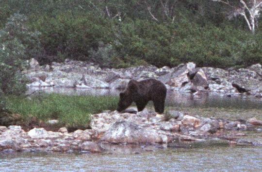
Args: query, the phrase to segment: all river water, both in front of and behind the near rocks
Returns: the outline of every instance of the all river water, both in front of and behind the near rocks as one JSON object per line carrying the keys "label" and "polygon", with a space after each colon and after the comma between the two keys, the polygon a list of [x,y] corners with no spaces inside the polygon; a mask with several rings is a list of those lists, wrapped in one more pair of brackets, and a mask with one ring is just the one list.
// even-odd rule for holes
{"label": "all river water, both in front of and behind the near rocks", "polygon": [[[31,90],[32,91],[32,90]],[[68,95],[115,95],[119,91],[108,89],[49,88],[44,92]],[[262,101],[245,96],[226,97],[215,94],[190,95],[169,92],[166,105],[199,116],[222,118],[261,119]],[[245,139],[262,141],[262,132],[246,132]],[[49,172],[49,171],[212,171],[212,172],[261,172],[261,146],[230,146],[226,142],[209,141],[170,145],[168,148],[149,152],[116,152],[111,154],[42,154],[16,153],[0,155],[0,172]]]}

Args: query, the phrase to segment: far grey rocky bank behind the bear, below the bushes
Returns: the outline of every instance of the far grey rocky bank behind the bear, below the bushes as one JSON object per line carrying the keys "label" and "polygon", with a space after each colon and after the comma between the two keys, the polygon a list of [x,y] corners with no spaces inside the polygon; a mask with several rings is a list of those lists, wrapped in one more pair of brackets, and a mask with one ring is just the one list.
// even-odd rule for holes
{"label": "far grey rocky bank behind the bear, below the bushes", "polygon": [[[262,66],[246,69],[197,68],[194,63],[174,68],[139,66],[126,69],[101,69],[92,63],[66,59],[64,63],[39,66],[34,59],[24,74],[29,87],[73,87],[124,89],[130,79],[154,78],[167,89],[182,93],[215,92],[226,96],[246,94],[262,98]],[[232,86],[233,84],[233,86]]]}

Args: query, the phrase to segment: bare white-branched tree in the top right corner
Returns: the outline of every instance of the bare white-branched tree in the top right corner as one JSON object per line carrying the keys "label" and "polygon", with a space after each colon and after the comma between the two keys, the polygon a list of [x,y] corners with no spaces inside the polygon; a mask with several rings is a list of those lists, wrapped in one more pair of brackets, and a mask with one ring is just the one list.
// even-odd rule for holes
{"label": "bare white-branched tree in the top right corner", "polygon": [[249,30],[254,33],[258,26],[258,19],[262,11],[262,0],[212,0],[229,6],[229,18],[243,16]]}

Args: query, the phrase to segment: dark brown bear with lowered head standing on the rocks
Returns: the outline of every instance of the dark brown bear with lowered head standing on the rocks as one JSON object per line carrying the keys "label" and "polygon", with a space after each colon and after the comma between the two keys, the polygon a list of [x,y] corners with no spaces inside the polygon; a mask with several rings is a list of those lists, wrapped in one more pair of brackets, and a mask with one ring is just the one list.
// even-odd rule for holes
{"label": "dark brown bear with lowered head standing on the rocks", "polygon": [[149,101],[153,101],[155,111],[163,113],[166,87],[155,79],[146,79],[140,82],[131,80],[125,91],[121,92],[119,96],[120,100],[116,109],[118,112],[128,108],[132,102],[136,103],[139,112],[145,108]]}

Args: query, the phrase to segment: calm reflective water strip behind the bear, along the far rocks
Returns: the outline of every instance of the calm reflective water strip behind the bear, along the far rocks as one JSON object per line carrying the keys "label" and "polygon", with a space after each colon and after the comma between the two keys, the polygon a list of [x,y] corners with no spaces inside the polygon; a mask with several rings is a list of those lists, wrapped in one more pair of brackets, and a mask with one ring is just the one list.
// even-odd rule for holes
{"label": "calm reflective water strip behind the bear, along the far rocks", "polygon": [[[39,88],[32,87],[28,93]],[[118,96],[121,90],[116,89],[74,89],[61,87],[47,87],[39,92],[59,93],[66,95],[93,95],[93,96]],[[35,92],[38,94],[39,92]],[[262,109],[262,99],[253,96],[236,95],[227,97],[215,93],[202,93],[198,95],[168,91],[166,97],[167,106],[189,106],[189,107],[223,107],[223,108],[245,108]]]}

